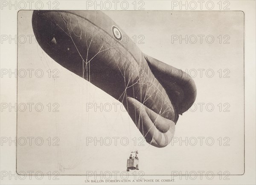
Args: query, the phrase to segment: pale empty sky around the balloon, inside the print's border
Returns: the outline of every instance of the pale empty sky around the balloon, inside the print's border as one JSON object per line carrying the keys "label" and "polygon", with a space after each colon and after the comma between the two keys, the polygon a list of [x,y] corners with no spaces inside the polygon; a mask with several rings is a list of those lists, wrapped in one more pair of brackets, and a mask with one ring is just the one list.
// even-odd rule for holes
{"label": "pale empty sky around the balloon, inside the print's border", "polygon": [[[17,137],[58,137],[59,146],[17,146],[17,171],[60,171],[61,174],[86,174],[86,171],[125,171],[126,159],[131,151],[138,150],[140,171],[145,174],[171,174],[172,171],[230,171],[230,174],[244,172],[244,63],[243,34],[244,14],[241,11],[107,11],[116,24],[133,37],[144,36],[143,44],[137,46],[157,60],[176,68],[189,71],[195,69],[197,86],[196,111],[180,116],[175,137],[212,137],[214,144],[208,146],[203,139],[202,146],[170,143],[165,148],[156,148],[143,142],[134,146],[134,137],[142,137],[127,112],[86,111],[86,103],[118,103],[113,97],[94,85],[72,74],[52,60],[32,40],[18,45],[18,69],[42,69],[44,76],[18,78],[18,103],[41,102],[44,111],[18,112]],[[33,35],[32,11],[19,11],[18,34]],[[195,44],[172,43],[172,35],[212,35],[214,43],[203,38]],[[219,43],[218,36],[230,36],[230,44]],[[32,37],[35,38],[35,37]],[[59,78],[49,78],[48,69],[58,69]],[[202,77],[198,69],[212,69],[209,78],[205,71]],[[222,71],[222,77],[217,72]],[[230,78],[224,78],[228,69]],[[191,74],[194,73],[191,71]],[[210,73],[209,73],[210,74]],[[113,88],[113,87],[110,87]],[[59,112],[47,111],[48,103],[58,103]],[[212,103],[209,112],[198,103]],[[229,103],[224,112],[219,103]],[[120,105],[120,104],[119,104]],[[129,144],[123,146],[120,139],[117,146],[86,145],[86,138],[127,137]],[[219,137],[222,144],[219,146]],[[224,137],[230,138],[224,146]],[[112,139],[112,141],[114,141]],[[63,170],[65,169],[65,170]],[[132,172],[131,172],[132,173]]]}

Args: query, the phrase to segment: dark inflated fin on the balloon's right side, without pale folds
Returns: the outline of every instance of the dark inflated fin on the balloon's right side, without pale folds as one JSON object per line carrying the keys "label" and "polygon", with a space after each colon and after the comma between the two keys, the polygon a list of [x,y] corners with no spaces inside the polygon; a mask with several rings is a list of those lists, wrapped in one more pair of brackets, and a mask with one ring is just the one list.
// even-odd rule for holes
{"label": "dark inflated fin on the balloon's right side, without pale folds", "polygon": [[165,88],[172,100],[177,114],[187,111],[196,98],[196,86],[194,80],[184,71],[163,63],[153,57],[145,55],[145,59],[154,76]]}

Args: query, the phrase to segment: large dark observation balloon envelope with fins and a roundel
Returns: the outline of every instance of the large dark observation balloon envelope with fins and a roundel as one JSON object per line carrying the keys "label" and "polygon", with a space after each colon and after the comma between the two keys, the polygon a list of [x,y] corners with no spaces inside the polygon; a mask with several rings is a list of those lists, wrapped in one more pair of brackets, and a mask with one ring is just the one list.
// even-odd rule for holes
{"label": "large dark observation balloon envelope with fins and a roundel", "polygon": [[101,11],[34,11],[32,26],[53,60],[122,102],[149,144],[171,142],[195,101],[188,74],[144,54]]}

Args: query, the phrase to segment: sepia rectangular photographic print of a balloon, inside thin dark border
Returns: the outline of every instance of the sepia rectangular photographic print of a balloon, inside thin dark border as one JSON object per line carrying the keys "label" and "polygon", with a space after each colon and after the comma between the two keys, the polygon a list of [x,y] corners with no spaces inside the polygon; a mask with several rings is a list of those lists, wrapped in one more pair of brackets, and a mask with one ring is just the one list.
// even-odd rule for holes
{"label": "sepia rectangular photographic print of a balloon, inside thin dark border", "polygon": [[18,45],[20,74],[35,69],[18,77],[18,105],[38,103],[17,113],[17,134],[44,142],[18,146],[18,171],[122,171],[138,151],[148,175],[243,174],[243,12],[20,11],[18,19],[19,33],[35,38]]}

